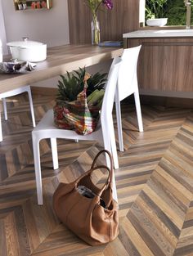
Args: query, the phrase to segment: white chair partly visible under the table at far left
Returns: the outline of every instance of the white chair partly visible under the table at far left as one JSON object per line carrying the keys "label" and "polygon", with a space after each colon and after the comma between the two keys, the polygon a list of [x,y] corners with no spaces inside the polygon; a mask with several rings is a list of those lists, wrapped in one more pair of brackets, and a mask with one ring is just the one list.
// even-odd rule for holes
{"label": "white chair partly visible under the table at far left", "polygon": [[[23,92],[28,92],[29,106],[30,106],[31,116],[32,116],[32,123],[33,123],[33,127],[35,127],[34,106],[33,106],[33,101],[32,101],[31,89],[30,89],[29,85],[26,85],[26,86],[21,87],[21,88],[16,88],[16,89],[11,90],[9,92],[2,92],[2,93],[0,93],[0,100],[2,99],[2,105],[3,105],[3,111],[4,111],[4,118],[5,118],[5,120],[7,120],[6,98],[18,95],[18,94],[23,93]],[[1,117],[0,117],[0,141],[2,141],[2,122],[1,122]]]}

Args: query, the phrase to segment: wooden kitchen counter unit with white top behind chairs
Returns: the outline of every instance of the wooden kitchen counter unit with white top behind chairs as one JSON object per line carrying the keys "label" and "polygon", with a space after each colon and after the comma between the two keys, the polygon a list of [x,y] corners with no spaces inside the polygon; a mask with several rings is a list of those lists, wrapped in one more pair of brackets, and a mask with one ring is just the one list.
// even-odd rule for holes
{"label": "wooden kitchen counter unit with white top behind chairs", "polygon": [[193,97],[193,29],[123,34],[124,47],[141,45],[137,74],[144,94]]}

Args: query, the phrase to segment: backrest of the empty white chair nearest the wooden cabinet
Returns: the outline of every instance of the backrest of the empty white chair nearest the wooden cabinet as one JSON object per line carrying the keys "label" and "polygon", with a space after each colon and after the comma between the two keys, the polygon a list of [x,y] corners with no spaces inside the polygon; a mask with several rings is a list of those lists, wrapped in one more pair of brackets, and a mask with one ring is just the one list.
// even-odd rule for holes
{"label": "backrest of the empty white chair nearest the wooden cabinet", "polygon": [[124,49],[121,56],[121,65],[119,67],[119,101],[131,95],[138,89],[137,85],[137,61],[141,45]]}

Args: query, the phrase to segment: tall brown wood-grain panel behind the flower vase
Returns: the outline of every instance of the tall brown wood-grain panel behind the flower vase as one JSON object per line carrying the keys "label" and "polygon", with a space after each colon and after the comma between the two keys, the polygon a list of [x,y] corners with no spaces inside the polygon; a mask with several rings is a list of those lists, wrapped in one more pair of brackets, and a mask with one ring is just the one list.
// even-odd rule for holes
{"label": "tall brown wood-grain panel behind the flower vase", "polygon": [[[101,41],[122,40],[123,33],[139,28],[139,0],[116,0],[113,4],[111,11],[98,11]],[[91,43],[91,11],[82,0],[68,0],[68,8],[70,43]]]}

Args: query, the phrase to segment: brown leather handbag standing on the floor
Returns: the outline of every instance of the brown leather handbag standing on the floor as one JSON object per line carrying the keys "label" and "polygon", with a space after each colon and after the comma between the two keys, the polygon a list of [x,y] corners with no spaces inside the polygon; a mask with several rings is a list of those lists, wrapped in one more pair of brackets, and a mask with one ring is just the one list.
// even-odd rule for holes
{"label": "brown leather handbag standing on the floor", "polygon": [[[110,168],[97,166],[96,159],[102,153],[110,156]],[[92,183],[91,173],[105,168],[109,176],[99,189]],[[101,150],[92,167],[74,182],[61,183],[53,195],[53,207],[61,222],[89,245],[108,243],[119,234],[118,204],[112,196],[112,158],[107,150]]]}

